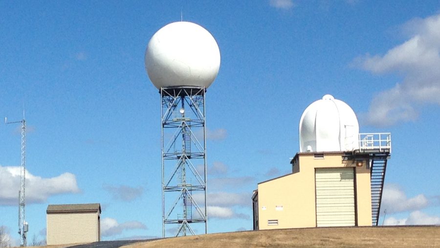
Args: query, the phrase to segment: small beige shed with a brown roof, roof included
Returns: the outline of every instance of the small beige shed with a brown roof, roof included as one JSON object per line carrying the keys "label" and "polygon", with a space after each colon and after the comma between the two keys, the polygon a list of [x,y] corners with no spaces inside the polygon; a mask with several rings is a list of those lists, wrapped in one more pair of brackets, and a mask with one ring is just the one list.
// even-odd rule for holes
{"label": "small beige shed with a brown roof, roof included", "polygon": [[101,240],[101,205],[47,206],[47,245],[90,243]]}

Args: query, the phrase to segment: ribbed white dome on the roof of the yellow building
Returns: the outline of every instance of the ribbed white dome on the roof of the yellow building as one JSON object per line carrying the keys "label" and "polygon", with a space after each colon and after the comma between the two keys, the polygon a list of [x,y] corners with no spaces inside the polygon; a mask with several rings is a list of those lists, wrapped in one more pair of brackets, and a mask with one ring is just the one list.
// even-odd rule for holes
{"label": "ribbed white dome on the roof of the yellow building", "polygon": [[359,123],[345,102],[325,95],[301,116],[300,152],[336,152],[359,149]]}

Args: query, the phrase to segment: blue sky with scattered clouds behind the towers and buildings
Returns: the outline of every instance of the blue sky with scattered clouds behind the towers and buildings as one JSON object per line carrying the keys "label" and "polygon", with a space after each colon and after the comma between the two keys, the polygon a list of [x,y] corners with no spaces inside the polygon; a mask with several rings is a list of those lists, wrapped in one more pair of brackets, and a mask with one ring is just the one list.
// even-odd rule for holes
{"label": "blue sky with scattered clouds behind the towers and buildings", "polygon": [[[28,237],[43,239],[47,204],[65,203],[101,203],[105,240],[161,236],[160,95],[144,52],[181,13],[221,54],[206,94],[210,233],[252,228],[252,190],[288,173],[301,114],[325,94],[352,107],[361,132],[392,133],[385,224],[440,224],[439,10],[435,0],[1,1],[0,116],[25,109]],[[0,225],[17,242],[19,125],[1,126],[0,140]]]}

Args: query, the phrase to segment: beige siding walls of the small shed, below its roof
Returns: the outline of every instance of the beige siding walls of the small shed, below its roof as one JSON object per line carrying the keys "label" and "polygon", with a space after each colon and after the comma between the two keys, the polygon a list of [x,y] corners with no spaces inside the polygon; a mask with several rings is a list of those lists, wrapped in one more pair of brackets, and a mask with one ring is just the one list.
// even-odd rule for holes
{"label": "beige siding walls of the small shed, below its roof", "polygon": [[47,245],[90,243],[100,240],[98,213],[47,214]]}

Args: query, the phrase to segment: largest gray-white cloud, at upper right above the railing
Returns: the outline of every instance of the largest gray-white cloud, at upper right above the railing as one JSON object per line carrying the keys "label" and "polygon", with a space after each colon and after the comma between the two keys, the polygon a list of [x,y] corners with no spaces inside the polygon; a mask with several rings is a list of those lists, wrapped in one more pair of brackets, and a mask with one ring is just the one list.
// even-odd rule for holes
{"label": "largest gray-white cloud, at upper right above the railing", "polygon": [[403,81],[378,93],[368,113],[367,124],[385,126],[412,121],[423,104],[440,104],[440,14],[415,19],[403,26],[410,37],[381,55],[365,55],[357,63],[373,73],[397,73]]}

